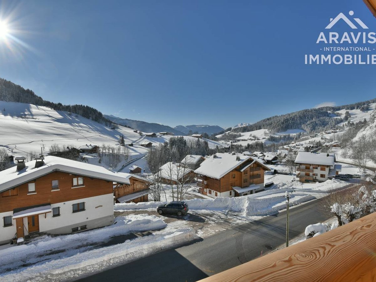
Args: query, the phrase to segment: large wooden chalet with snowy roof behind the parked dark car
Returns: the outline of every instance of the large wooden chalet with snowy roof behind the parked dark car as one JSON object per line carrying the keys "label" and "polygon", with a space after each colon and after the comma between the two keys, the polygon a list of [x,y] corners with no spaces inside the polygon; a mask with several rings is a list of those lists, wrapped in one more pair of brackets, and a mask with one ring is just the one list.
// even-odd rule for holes
{"label": "large wooden chalet with snowy roof behind the parked dark car", "polygon": [[237,197],[264,189],[264,172],[271,169],[259,159],[233,153],[216,153],[194,172],[200,192],[211,197]]}

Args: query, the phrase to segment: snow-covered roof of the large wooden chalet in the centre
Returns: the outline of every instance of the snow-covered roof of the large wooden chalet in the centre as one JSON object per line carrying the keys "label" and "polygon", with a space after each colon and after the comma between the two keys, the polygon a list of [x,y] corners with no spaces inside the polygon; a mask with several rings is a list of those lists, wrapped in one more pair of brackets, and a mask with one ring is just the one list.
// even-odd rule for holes
{"label": "snow-covered roof of the large wooden chalet in the centre", "polygon": [[[217,156],[216,158],[214,158],[214,155],[210,156],[205,161],[203,161],[200,167],[197,168],[197,170],[195,170],[194,172],[197,174],[220,179],[239,165],[244,164],[244,162],[249,160],[256,161],[254,158],[244,155],[232,155],[230,153],[216,153],[215,155]],[[239,161],[237,161],[237,158],[239,158]],[[257,160],[257,162],[263,165],[265,168],[268,168],[260,161]]]}

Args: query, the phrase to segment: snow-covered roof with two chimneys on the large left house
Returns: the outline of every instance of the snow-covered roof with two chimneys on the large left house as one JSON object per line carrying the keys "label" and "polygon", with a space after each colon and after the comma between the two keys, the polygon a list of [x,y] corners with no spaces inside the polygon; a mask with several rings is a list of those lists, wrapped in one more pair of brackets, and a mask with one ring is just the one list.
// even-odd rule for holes
{"label": "snow-covered roof with two chimneys on the large left house", "polygon": [[[52,171],[62,171],[122,184],[130,184],[129,177],[127,177],[129,173],[110,171],[99,165],[72,161],[55,156],[45,156],[44,165],[38,168],[35,168],[35,160],[26,162],[25,165],[26,167],[21,171],[17,171],[16,167],[0,171],[0,192],[49,174]],[[134,174],[129,175],[134,176]]]}

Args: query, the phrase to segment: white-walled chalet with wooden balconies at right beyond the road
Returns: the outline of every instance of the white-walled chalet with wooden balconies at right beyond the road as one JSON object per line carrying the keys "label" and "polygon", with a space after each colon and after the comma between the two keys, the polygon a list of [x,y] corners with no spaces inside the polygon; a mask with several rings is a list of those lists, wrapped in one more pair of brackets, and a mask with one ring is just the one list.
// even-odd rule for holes
{"label": "white-walled chalet with wooden balconies at right beyond the road", "polygon": [[326,181],[329,176],[334,177],[341,171],[342,166],[334,162],[334,153],[299,152],[295,159],[296,177],[300,182]]}

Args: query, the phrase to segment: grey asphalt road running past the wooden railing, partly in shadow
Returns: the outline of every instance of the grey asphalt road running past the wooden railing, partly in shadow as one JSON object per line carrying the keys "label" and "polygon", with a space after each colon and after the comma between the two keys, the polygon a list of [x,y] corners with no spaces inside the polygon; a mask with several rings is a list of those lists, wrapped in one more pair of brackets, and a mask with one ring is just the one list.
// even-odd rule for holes
{"label": "grey asphalt road running past the wooden railing, partly in shadow", "polygon": [[[290,240],[332,215],[323,199],[290,208]],[[286,212],[241,224],[176,249],[85,277],[80,281],[196,281],[258,258],[286,242]]]}

